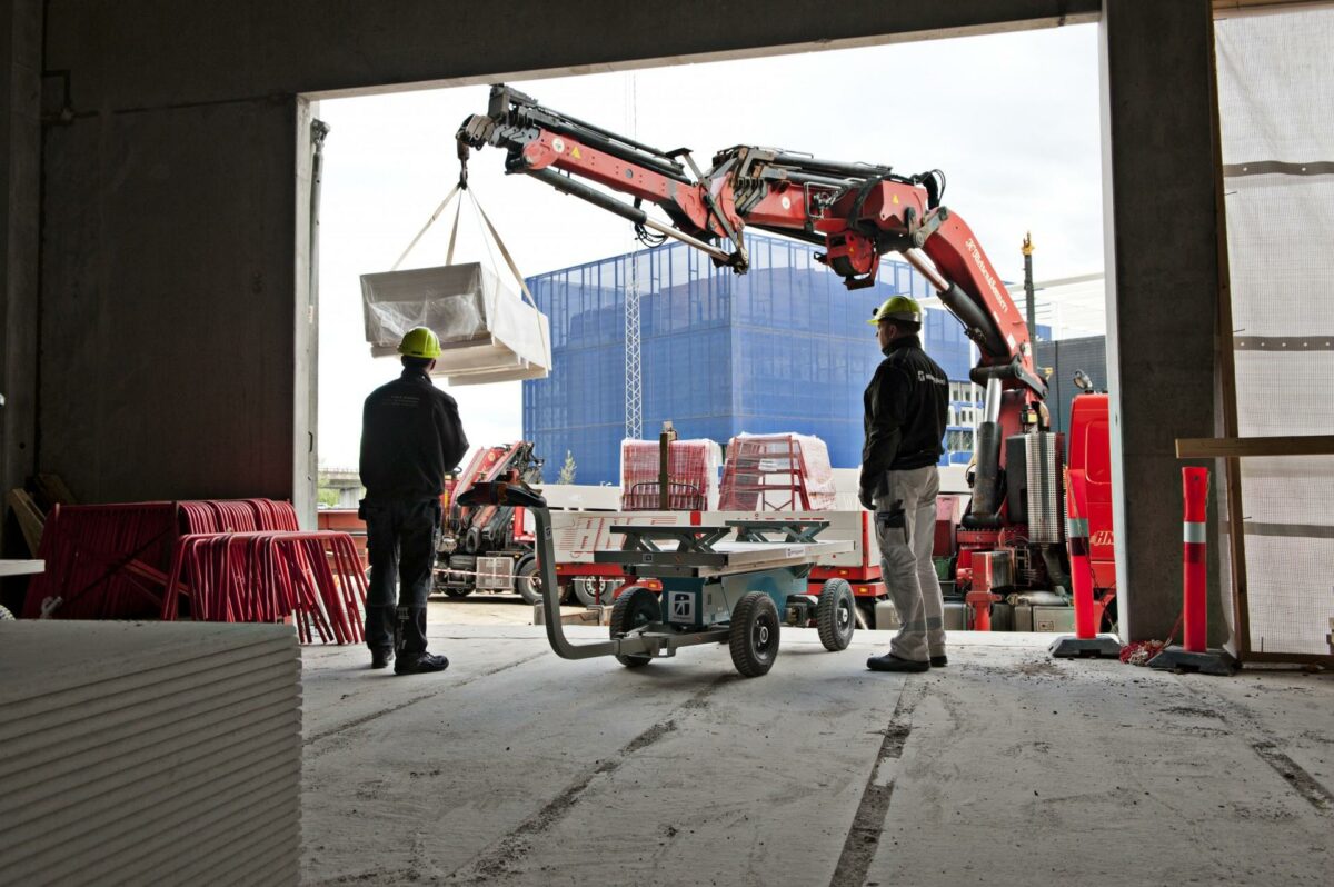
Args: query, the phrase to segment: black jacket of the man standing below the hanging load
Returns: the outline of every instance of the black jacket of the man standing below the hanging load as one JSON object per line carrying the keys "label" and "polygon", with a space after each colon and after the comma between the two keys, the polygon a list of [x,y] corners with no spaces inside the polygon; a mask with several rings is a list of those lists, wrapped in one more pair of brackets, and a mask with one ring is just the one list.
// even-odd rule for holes
{"label": "black jacket of the man standing below the hanging load", "polygon": [[366,399],[362,484],[367,502],[434,499],[468,451],[459,404],[424,369],[403,369]]}

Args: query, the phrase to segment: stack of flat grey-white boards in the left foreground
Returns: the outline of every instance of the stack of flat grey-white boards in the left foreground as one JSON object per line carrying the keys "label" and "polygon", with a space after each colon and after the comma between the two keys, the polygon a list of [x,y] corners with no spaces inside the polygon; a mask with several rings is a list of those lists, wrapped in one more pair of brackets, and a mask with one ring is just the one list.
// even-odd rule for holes
{"label": "stack of flat grey-white boards in the left foreground", "polygon": [[295,884],[283,626],[0,623],[0,884]]}

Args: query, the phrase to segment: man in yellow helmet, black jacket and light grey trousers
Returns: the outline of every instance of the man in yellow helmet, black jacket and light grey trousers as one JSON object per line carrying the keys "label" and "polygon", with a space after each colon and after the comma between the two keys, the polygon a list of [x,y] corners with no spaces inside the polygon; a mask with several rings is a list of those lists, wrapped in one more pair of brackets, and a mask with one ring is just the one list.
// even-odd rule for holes
{"label": "man in yellow helmet, black jacket and light grey trousers", "polygon": [[872,671],[926,671],[948,662],[931,547],[950,380],[922,349],[922,317],[915,299],[891,296],[867,321],[884,360],[863,395],[866,446],[858,499],[875,511],[880,578],[900,626],[890,652],[867,660]]}

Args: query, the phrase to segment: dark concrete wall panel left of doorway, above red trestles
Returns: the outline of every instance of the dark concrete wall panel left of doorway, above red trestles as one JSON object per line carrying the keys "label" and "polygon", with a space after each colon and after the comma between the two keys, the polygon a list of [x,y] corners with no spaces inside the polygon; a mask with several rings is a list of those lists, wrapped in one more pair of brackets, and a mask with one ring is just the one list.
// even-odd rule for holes
{"label": "dark concrete wall panel left of doorway, above red trestles", "polygon": [[40,463],[80,500],[292,492],[297,101],[45,136]]}

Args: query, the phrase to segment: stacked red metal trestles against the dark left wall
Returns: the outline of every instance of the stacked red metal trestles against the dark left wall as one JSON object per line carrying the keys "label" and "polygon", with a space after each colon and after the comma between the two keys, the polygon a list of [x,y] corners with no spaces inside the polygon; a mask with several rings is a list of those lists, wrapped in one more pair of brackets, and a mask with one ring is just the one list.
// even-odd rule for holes
{"label": "stacked red metal trestles against the dark left wall", "polygon": [[300,531],[287,502],[57,506],[40,556],[27,618],[291,618],[303,643],[362,640],[366,574],[352,536]]}

